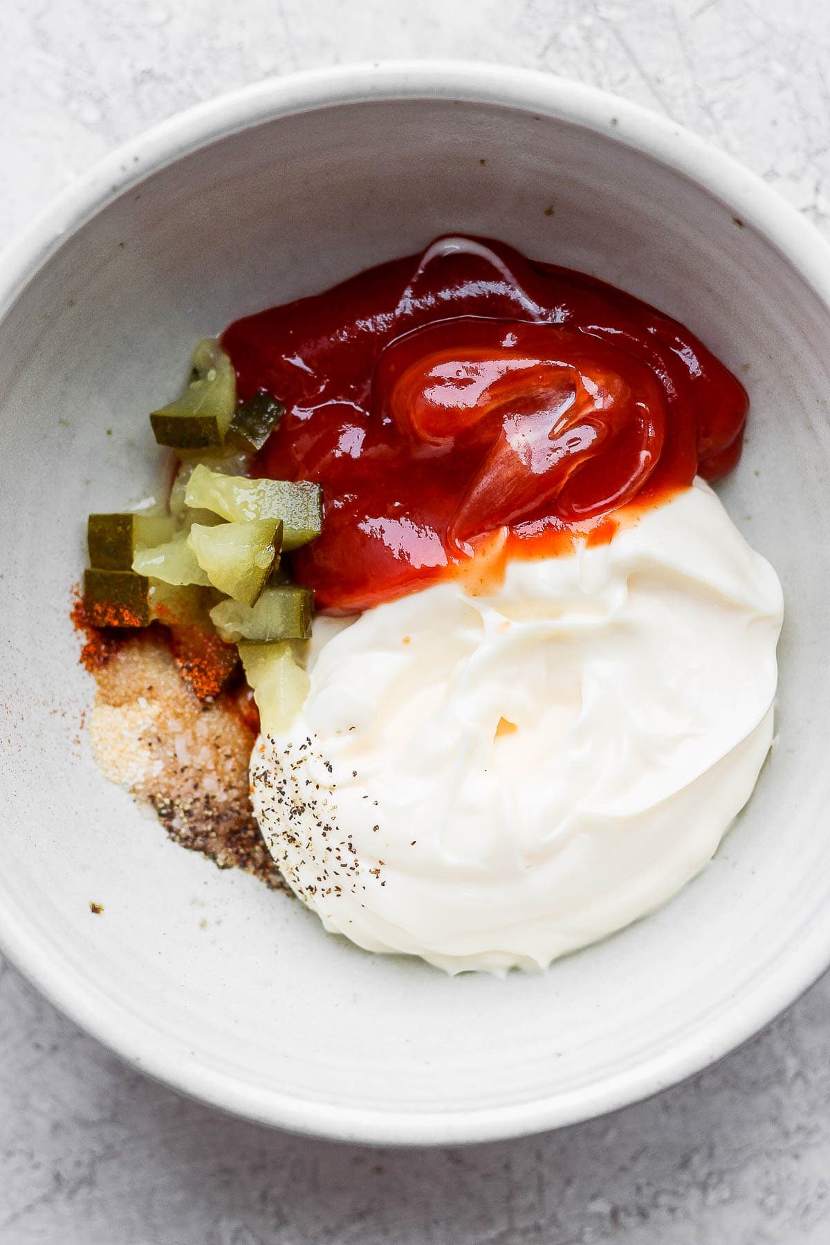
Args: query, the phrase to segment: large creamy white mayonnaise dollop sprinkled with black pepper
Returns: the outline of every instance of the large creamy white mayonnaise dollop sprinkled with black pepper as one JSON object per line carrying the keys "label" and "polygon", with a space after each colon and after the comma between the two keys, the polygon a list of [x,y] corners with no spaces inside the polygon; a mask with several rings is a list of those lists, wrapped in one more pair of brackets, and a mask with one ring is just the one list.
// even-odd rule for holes
{"label": "large creamy white mayonnaise dollop sprinkled with black pepper", "polygon": [[572,557],[315,622],[254,751],[296,894],[371,951],[544,967],[711,859],[773,737],[781,590],[699,481]]}

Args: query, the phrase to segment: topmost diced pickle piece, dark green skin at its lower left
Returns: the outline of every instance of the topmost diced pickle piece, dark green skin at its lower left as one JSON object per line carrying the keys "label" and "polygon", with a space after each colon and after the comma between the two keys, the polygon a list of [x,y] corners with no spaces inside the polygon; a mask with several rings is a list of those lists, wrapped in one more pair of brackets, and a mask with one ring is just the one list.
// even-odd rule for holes
{"label": "topmost diced pickle piece, dark green skin at its lower left", "polygon": [[214,337],[203,337],[194,351],[184,392],[153,411],[149,422],[161,446],[209,449],[221,446],[235,407],[234,366]]}

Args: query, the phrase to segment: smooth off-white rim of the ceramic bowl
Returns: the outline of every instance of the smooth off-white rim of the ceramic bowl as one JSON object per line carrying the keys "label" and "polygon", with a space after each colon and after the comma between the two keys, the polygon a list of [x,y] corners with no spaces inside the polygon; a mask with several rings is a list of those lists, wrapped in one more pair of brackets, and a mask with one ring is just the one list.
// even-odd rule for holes
{"label": "smooth off-white rim of the ceramic bowl", "polygon": [[[757,174],[640,105],[535,70],[488,62],[396,60],[268,78],[174,115],[98,161],[0,254],[0,319],[68,235],[152,173],[217,139],[294,113],[392,100],[458,100],[554,117],[600,132],[684,174],[723,202],[789,261],[830,309],[830,244]],[[138,153],[138,154],[137,154]],[[671,1050],[569,1093],[482,1111],[380,1112],[316,1104],[240,1084],[200,1067],[173,1040],[78,989],[45,942],[0,909],[0,952],[61,1012],[133,1067],[212,1107],[256,1123],[337,1140],[438,1145],[500,1140],[575,1124],[677,1084],[748,1041],[830,965],[830,911],[744,990],[739,1006],[707,1013]]]}

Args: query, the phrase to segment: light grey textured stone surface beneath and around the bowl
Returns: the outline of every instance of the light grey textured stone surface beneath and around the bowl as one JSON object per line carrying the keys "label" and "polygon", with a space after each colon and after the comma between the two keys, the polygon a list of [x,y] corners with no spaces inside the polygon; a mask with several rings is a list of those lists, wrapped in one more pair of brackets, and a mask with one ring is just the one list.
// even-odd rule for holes
{"label": "light grey textured stone surface beneath and around the bowl", "polygon": [[[513,61],[664,112],[830,234],[828,0],[0,0],[0,238],[95,159],[268,75]],[[830,1243],[830,981],[714,1069],[557,1134],[282,1137],[124,1068],[0,961],[0,1245]]]}

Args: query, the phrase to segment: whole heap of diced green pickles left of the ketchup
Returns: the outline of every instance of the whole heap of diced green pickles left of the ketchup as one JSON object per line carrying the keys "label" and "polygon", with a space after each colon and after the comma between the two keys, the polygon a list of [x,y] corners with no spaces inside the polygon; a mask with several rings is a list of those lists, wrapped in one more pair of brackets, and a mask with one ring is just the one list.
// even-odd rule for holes
{"label": "whole heap of diced green pickles left of the ketchup", "polygon": [[233,364],[204,337],[183,393],[151,413],[156,441],[179,456],[169,515],[91,514],[83,579],[90,624],[163,624],[203,700],[241,659],[266,733],[285,730],[309,691],[297,657],[314,593],[290,581],[280,554],[322,529],[319,484],[243,474],[284,413],[266,390],[238,407]]}

